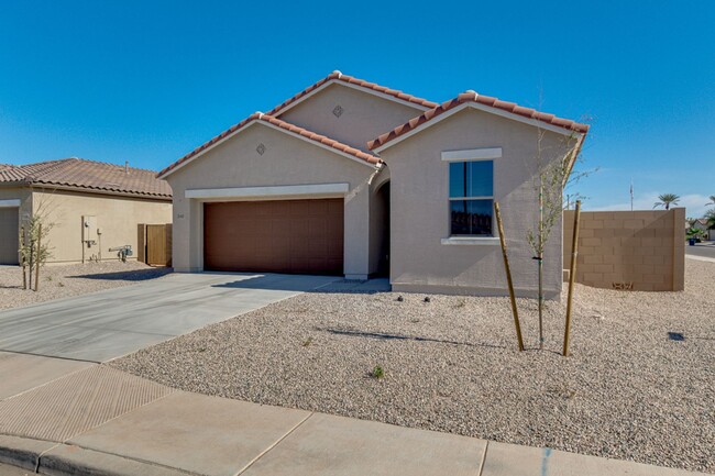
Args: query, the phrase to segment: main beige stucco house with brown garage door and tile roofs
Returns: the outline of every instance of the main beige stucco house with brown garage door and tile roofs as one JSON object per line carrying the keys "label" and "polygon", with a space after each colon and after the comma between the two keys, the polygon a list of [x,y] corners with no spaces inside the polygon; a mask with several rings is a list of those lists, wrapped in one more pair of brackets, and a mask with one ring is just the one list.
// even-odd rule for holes
{"label": "main beige stucco house with brown garage door and tile roofs", "polygon": [[536,157],[575,158],[587,130],[473,91],[438,104],[334,71],[158,174],[174,190],[174,267],[384,274],[394,290],[503,295],[498,200],[517,291],[532,292]]}

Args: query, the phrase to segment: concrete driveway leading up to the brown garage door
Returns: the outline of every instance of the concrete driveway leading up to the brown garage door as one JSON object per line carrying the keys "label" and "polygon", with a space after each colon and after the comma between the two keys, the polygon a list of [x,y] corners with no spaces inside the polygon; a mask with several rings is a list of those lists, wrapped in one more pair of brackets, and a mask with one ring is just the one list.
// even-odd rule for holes
{"label": "concrete driveway leading up to the brown garage door", "polygon": [[324,286],[327,276],[174,274],[0,312],[0,351],[107,362]]}

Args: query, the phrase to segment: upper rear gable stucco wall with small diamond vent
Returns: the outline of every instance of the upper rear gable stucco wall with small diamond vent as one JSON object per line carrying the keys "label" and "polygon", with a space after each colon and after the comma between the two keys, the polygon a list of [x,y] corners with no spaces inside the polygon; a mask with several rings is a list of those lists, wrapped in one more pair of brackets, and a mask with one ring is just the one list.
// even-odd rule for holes
{"label": "upper rear gable stucco wall with small diamond vent", "polygon": [[[343,109],[339,118],[332,113],[336,106]],[[365,150],[367,141],[406,123],[422,111],[424,109],[415,106],[384,99],[338,82],[289,109],[279,118],[343,144]]]}

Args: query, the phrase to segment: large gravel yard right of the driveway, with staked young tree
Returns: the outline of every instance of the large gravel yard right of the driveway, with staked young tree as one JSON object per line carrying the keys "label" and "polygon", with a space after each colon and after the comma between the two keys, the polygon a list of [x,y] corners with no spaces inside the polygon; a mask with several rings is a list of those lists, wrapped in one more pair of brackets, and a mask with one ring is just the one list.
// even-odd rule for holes
{"label": "large gravel yard right of the driveway, with staked young tree", "polygon": [[506,298],[320,291],[110,365],[202,394],[715,473],[715,263],[686,259],[684,292],[578,286],[569,358],[560,303],[538,351],[535,301],[519,301],[519,353]]}

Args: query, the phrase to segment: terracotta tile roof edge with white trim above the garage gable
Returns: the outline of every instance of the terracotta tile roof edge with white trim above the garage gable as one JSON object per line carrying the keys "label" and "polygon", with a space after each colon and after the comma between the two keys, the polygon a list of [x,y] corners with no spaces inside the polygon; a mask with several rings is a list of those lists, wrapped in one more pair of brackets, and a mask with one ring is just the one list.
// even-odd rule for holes
{"label": "terracotta tile roof edge with white trim above the garage gable", "polygon": [[361,160],[365,160],[369,164],[376,165],[376,164],[380,164],[382,162],[380,159],[380,157],[377,157],[377,156],[375,156],[373,154],[369,154],[366,152],[360,151],[360,150],[358,150],[355,147],[351,147],[350,145],[343,144],[342,142],[338,142],[338,141],[336,141],[333,139],[330,139],[330,137],[327,137],[324,135],[320,135],[320,134],[317,134],[315,132],[310,132],[310,131],[308,131],[308,130],[306,130],[304,128],[299,128],[299,126],[297,126],[295,124],[290,124],[290,123],[288,123],[286,121],[274,118],[272,115],[264,114],[262,112],[254,112],[253,114],[245,118],[243,121],[239,122],[238,124],[232,125],[231,128],[227,129],[226,131],[223,131],[219,135],[215,136],[210,141],[205,142],[204,144],[199,145],[194,151],[189,152],[184,157],[176,160],[174,164],[172,164],[168,167],[164,168],[156,176],[157,177],[164,176],[165,174],[172,171],[173,169],[175,169],[179,165],[186,163],[187,160],[190,160],[191,158],[194,158],[195,156],[197,156],[201,152],[204,152],[207,148],[211,147],[216,143],[222,141],[223,139],[228,137],[229,135],[233,134],[234,132],[239,131],[240,129],[244,128],[245,125],[249,125],[249,123],[251,123],[253,121],[262,121],[262,122],[273,124],[273,125],[275,125],[277,128],[280,128],[280,129],[285,130],[285,131],[293,132],[295,134],[301,135],[301,136],[307,137],[307,139],[309,139],[311,141],[315,141],[315,142],[318,142],[320,144],[327,145],[327,146],[329,146],[331,148],[334,148],[337,151],[340,151],[342,153],[352,155],[352,156],[354,156],[356,158],[360,158]]}

